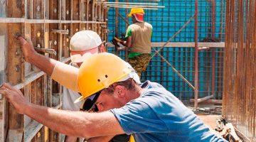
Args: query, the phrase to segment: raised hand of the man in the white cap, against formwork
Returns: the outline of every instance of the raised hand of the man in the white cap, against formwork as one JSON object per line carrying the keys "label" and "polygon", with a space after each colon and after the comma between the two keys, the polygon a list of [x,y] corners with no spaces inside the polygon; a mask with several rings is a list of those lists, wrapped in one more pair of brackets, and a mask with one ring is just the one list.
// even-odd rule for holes
{"label": "raised hand of the man in the white cap, against formwork", "polygon": [[31,56],[36,54],[33,44],[31,41],[25,40],[22,36],[19,36],[17,39],[21,42],[21,48],[26,62],[29,62]]}

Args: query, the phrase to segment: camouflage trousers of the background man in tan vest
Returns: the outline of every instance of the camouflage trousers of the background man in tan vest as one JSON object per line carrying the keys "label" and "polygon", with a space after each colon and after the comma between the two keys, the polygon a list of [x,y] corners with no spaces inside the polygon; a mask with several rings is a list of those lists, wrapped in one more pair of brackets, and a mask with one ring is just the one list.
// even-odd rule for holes
{"label": "camouflage trousers of the background man in tan vest", "polygon": [[146,70],[149,64],[150,58],[150,54],[142,54],[134,58],[128,58],[127,62],[134,67],[134,70],[136,70],[139,77],[141,77],[142,72]]}

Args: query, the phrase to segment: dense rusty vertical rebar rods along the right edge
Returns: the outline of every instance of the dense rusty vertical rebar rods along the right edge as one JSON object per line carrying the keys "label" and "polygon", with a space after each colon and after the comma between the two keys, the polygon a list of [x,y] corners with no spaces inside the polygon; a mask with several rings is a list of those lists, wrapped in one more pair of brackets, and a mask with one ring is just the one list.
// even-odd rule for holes
{"label": "dense rusty vertical rebar rods along the right edge", "polygon": [[256,1],[227,1],[223,116],[256,141]]}

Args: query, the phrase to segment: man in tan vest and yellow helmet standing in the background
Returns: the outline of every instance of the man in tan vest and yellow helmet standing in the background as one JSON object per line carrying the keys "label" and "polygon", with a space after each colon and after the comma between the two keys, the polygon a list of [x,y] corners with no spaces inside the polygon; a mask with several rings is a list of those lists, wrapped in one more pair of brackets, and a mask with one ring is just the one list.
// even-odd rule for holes
{"label": "man in tan vest and yellow helmet standing in the background", "polygon": [[153,28],[150,23],[144,21],[144,13],[144,10],[141,8],[131,9],[128,16],[132,17],[133,24],[127,28],[126,40],[120,40],[120,43],[129,49],[127,62],[137,71],[139,77],[146,70],[151,59]]}

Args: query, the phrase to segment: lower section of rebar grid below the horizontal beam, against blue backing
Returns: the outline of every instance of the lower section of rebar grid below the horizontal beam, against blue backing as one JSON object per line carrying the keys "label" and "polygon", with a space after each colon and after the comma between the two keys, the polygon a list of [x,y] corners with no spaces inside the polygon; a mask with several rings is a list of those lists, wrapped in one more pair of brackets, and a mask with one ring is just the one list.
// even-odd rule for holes
{"label": "lower section of rebar grid below the horizontal beam, against blue backing", "polygon": [[[158,50],[160,47],[155,48]],[[216,55],[223,54],[223,48],[216,49]],[[114,48],[108,48],[108,52],[114,53]],[[119,50],[119,56],[124,59],[124,50]],[[163,57],[178,70],[188,82],[194,82],[194,48],[164,48],[161,51]],[[154,54],[154,50],[153,50]],[[211,94],[211,51],[202,50],[198,53],[198,98]],[[215,70],[215,98],[222,99],[223,94],[223,56],[216,56]],[[201,60],[203,59],[203,60]],[[220,65],[220,66],[219,66]],[[218,70],[220,69],[220,72]],[[218,76],[217,76],[218,75]],[[159,82],[171,91],[183,102],[193,99],[194,90],[184,82],[173,69],[161,59],[159,55],[154,56],[142,74],[142,81],[150,80]]]}

